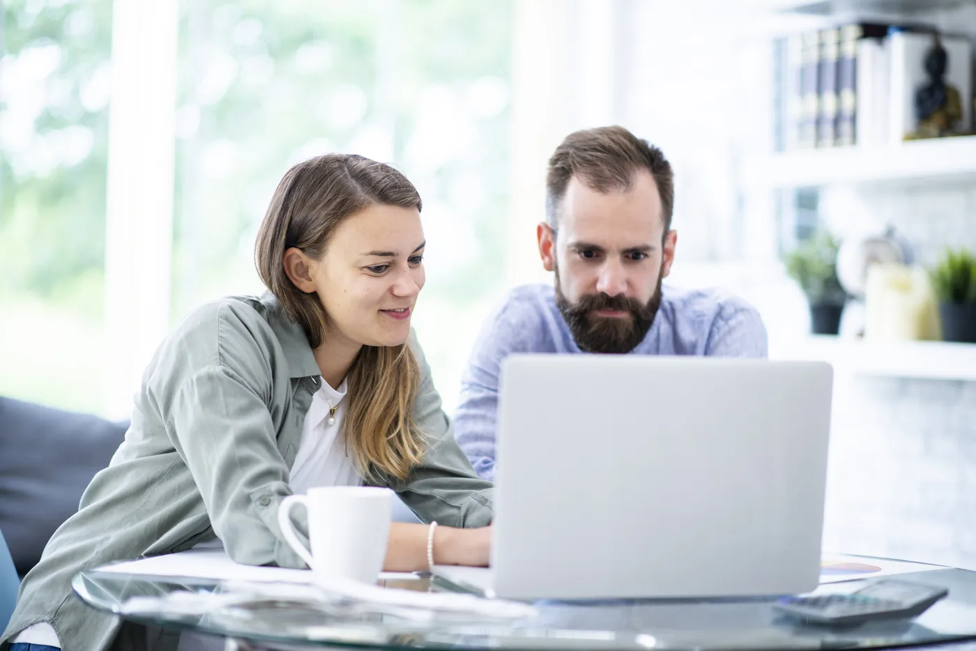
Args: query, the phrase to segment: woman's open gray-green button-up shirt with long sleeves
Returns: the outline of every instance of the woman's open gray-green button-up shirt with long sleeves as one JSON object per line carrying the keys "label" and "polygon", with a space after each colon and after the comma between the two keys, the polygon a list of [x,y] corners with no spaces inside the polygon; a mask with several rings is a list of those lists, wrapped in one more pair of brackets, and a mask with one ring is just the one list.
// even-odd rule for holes
{"label": "woman's open gray-green button-up shirt with long sleeves", "polygon": [[[487,525],[492,484],[455,443],[423,352],[416,340],[411,346],[422,375],[414,420],[427,452],[406,481],[382,483],[425,521]],[[320,375],[305,332],[269,295],[224,299],[184,318],[142,376],[125,441],[24,578],[0,646],[48,622],[64,651],[113,641],[114,648],[175,648],[172,634],[133,625],[120,631],[118,618],[71,592],[77,572],[110,561],[219,537],[237,562],[305,567],[284,542],[277,511],[292,492],[288,476]],[[302,513],[296,524],[305,532]]]}

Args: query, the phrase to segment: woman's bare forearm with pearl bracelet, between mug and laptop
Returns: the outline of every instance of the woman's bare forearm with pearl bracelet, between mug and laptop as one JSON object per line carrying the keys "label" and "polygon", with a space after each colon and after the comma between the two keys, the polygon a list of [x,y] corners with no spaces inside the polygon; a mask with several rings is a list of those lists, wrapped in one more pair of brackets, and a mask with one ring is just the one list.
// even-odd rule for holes
{"label": "woman's bare forearm with pearl bracelet, between mug and laptop", "polygon": [[[429,531],[426,524],[390,524],[383,569],[387,572],[427,570]],[[433,562],[437,565],[484,566],[488,564],[490,544],[491,527],[457,529],[438,526],[434,529]]]}

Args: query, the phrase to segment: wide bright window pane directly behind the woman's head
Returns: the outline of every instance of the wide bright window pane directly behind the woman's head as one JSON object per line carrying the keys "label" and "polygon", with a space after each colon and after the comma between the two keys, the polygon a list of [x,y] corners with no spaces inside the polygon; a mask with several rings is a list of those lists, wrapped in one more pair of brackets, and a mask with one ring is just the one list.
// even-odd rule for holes
{"label": "wide bright window pane directly behind the woman's head", "polygon": [[290,165],[391,162],[424,199],[414,325],[450,408],[503,264],[511,21],[509,2],[184,2],[174,316],[262,291],[255,235]]}

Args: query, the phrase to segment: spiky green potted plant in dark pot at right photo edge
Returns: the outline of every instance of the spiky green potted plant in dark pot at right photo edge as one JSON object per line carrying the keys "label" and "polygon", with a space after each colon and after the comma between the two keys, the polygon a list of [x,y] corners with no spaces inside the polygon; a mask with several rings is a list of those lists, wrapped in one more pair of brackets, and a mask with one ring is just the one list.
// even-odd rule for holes
{"label": "spiky green potted plant in dark pot at right photo edge", "polygon": [[976,256],[965,249],[948,249],[931,273],[942,338],[976,344]]}

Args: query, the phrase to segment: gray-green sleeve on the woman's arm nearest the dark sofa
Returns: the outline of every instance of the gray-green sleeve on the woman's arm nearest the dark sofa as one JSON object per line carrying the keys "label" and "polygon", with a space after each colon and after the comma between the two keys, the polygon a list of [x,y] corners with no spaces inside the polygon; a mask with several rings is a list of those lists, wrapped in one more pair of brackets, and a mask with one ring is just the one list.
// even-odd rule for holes
{"label": "gray-green sleeve on the woman's arm nearest the dark sofa", "polygon": [[[235,561],[305,567],[284,541],[277,512],[292,494],[288,466],[277,447],[270,401],[289,378],[275,378],[267,359],[274,334],[219,306],[215,324],[191,329],[160,354],[170,355],[162,377],[150,379],[174,447],[189,469],[211,526]],[[175,499],[178,496],[175,496]],[[307,542],[304,509],[293,522]]]}

